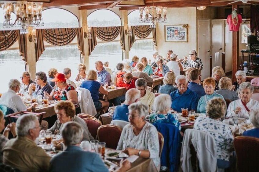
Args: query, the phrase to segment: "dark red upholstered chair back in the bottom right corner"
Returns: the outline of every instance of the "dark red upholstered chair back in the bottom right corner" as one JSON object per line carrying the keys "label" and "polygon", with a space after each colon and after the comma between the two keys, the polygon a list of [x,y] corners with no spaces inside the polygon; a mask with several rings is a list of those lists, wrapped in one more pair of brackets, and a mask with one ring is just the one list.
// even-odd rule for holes
{"label": "dark red upholstered chair back in the bottom right corner", "polygon": [[259,171],[259,139],[235,137],[234,147],[237,156],[237,171]]}

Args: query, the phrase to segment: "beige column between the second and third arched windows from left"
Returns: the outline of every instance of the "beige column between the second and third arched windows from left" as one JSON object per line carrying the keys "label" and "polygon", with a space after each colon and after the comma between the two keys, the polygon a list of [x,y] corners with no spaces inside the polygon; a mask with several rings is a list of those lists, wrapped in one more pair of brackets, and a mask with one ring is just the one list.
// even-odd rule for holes
{"label": "beige column between the second and third arched windows from left", "polygon": [[[80,26],[83,28],[83,34],[86,32],[87,33],[87,10],[79,10],[80,14],[80,19],[79,23]],[[84,37],[84,49],[85,49],[85,55],[81,54],[81,61],[83,64],[86,65],[86,72],[89,71],[89,46],[88,46],[88,38]]]}

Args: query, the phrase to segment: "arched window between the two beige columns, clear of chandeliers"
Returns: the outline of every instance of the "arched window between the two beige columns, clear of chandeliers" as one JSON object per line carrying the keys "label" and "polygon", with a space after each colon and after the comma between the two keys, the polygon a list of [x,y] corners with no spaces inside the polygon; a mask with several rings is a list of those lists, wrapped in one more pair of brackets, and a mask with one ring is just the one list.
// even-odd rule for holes
{"label": "arched window between the two beige columns, clear of chandeliers", "polygon": [[[120,17],[113,11],[108,9],[99,9],[87,16],[87,24],[89,27],[97,26],[121,26]],[[122,50],[119,42],[119,36],[111,41],[104,42],[97,39],[97,46],[89,56],[90,69],[94,69],[95,61],[109,61],[109,68],[116,69],[119,61],[122,61]]]}

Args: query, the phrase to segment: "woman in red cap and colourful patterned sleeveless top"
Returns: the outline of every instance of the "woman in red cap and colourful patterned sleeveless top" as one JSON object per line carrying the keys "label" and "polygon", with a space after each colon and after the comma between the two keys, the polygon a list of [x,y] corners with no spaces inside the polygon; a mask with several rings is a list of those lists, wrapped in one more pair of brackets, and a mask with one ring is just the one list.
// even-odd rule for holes
{"label": "woman in red cap and colourful patterned sleeveless top", "polygon": [[76,114],[81,113],[79,104],[78,104],[78,95],[75,90],[75,87],[68,84],[66,82],[65,75],[63,73],[57,73],[54,79],[51,81],[56,83],[56,86],[54,86],[52,92],[44,93],[45,97],[48,97],[49,100],[69,100],[71,101],[76,108]]}

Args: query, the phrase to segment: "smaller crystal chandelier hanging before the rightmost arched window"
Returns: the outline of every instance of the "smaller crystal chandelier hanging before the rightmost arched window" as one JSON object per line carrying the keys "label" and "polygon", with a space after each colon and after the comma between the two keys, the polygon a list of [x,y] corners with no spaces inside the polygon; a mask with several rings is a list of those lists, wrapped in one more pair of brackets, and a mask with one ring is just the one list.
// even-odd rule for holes
{"label": "smaller crystal chandelier hanging before the rightmost arched window", "polygon": [[[152,16],[149,17],[149,11],[151,9]],[[154,2],[153,6],[151,7],[139,7],[139,23],[150,23],[150,26],[152,28],[155,28],[155,23],[166,23],[167,18],[166,18],[166,11],[167,7],[155,7]],[[143,11],[145,11],[145,17],[143,17]],[[163,17],[162,17],[163,14]]]}

